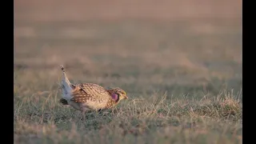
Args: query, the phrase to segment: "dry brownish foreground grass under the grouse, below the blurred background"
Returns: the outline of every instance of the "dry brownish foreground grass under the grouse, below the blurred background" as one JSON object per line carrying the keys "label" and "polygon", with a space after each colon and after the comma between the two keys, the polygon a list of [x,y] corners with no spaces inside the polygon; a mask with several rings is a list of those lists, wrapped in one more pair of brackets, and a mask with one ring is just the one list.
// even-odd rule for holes
{"label": "dry brownish foreground grass under the grouse, below the blurred background", "polygon": [[242,143],[242,104],[233,94],[202,101],[132,98],[86,120],[49,97],[15,102],[14,142]]}

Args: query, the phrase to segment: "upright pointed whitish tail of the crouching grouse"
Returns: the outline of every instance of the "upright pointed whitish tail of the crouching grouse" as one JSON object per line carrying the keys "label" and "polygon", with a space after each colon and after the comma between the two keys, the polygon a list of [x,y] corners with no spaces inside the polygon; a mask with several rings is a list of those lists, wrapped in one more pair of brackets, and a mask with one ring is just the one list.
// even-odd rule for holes
{"label": "upright pointed whitish tail of the crouching grouse", "polygon": [[72,98],[73,86],[66,76],[64,66],[61,65],[62,69],[62,98],[70,100]]}

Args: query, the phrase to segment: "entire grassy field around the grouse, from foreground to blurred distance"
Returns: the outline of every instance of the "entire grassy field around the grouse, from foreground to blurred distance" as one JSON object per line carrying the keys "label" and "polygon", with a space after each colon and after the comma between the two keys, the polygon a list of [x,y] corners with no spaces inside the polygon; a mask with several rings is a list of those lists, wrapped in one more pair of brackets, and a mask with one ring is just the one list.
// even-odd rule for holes
{"label": "entire grassy field around the grouse, from foreground to blurred distance", "polygon": [[[70,80],[129,99],[86,120]],[[242,143],[242,1],[14,1],[14,143]]]}

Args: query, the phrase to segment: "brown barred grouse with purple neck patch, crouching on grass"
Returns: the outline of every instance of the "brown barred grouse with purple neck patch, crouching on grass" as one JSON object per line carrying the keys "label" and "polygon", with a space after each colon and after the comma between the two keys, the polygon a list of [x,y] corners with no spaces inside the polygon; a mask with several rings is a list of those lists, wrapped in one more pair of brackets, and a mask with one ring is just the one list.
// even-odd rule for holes
{"label": "brown barred grouse with purple neck patch, crouching on grass", "polygon": [[120,88],[105,89],[94,83],[71,84],[64,67],[62,68],[62,98],[59,100],[63,105],[73,106],[74,109],[83,113],[90,110],[110,109],[128,98],[126,92]]}

